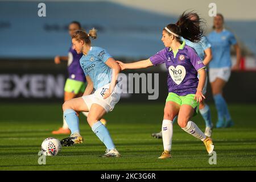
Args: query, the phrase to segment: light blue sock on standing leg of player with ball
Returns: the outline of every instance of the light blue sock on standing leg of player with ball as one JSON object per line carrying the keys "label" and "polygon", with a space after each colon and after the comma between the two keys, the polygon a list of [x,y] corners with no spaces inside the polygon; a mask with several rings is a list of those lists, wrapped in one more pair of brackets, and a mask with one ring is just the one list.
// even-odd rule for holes
{"label": "light blue sock on standing leg of player with ball", "polygon": [[108,148],[108,150],[112,150],[115,148],[112,138],[110,137],[108,129],[100,122],[97,121],[92,126],[92,131],[97,135],[97,137],[103,142]]}

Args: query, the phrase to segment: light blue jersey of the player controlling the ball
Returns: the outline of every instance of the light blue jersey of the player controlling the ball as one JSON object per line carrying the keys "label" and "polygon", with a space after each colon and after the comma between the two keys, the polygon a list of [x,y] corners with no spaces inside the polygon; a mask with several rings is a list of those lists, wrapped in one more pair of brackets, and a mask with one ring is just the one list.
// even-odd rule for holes
{"label": "light blue jersey of the player controlling the ball", "polygon": [[105,64],[110,57],[112,56],[105,49],[90,47],[87,55],[83,55],[80,59],[85,76],[92,79],[93,87],[96,90],[111,82],[112,69]]}

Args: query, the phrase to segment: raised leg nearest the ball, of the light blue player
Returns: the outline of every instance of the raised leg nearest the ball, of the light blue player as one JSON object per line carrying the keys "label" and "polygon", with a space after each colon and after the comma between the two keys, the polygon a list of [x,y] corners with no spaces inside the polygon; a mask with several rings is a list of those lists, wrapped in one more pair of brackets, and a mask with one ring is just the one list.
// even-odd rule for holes
{"label": "raised leg nearest the ball, of the light blue player", "polygon": [[65,121],[71,130],[71,137],[61,140],[63,146],[72,146],[73,144],[82,143],[83,138],[80,135],[79,117],[80,111],[88,111],[88,106],[85,104],[82,97],[73,98],[65,101],[63,104],[63,115]]}

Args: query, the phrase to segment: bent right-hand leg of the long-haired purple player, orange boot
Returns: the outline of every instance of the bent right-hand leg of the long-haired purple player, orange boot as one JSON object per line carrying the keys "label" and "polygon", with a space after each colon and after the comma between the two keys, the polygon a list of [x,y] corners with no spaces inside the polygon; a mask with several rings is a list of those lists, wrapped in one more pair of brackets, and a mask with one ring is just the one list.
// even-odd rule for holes
{"label": "bent right-hand leg of the long-haired purple player, orange boot", "polygon": [[199,129],[196,123],[191,121],[191,118],[193,117],[194,113],[195,113],[195,109],[193,109],[191,105],[187,105],[187,104],[181,105],[179,115],[178,115],[178,124],[181,127],[181,129],[183,129],[185,132],[203,141],[205,144],[205,147],[207,148],[207,152],[210,154],[214,149],[212,139],[207,137],[203,133],[203,131]]}

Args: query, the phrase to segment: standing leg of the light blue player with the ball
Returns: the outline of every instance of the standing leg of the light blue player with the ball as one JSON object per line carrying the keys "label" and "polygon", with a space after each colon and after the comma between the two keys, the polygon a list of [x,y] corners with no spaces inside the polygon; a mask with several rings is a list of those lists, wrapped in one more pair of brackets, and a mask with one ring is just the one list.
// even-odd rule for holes
{"label": "standing leg of the light blue player with the ball", "polygon": [[92,131],[105,144],[107,151],[102,157],[120,157],[121,155],[116,150],[114,142],[110,137],[108,129],[100,122],[100,119],[106,114],[104,107],[98,104],[92,104],[87,117],[87,121],[92,127]]}

